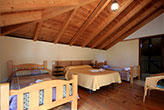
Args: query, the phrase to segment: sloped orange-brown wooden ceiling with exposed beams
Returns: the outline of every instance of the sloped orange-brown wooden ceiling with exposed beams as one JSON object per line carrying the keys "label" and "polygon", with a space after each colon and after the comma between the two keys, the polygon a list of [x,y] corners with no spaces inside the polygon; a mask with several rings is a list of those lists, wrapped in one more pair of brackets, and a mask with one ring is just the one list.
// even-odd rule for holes
{"label": "sloped orange-brown wooden ceiling with exposed beams", "polygon": [[0,0],[1,35],[107,50],[164,12],[164,0]]}

